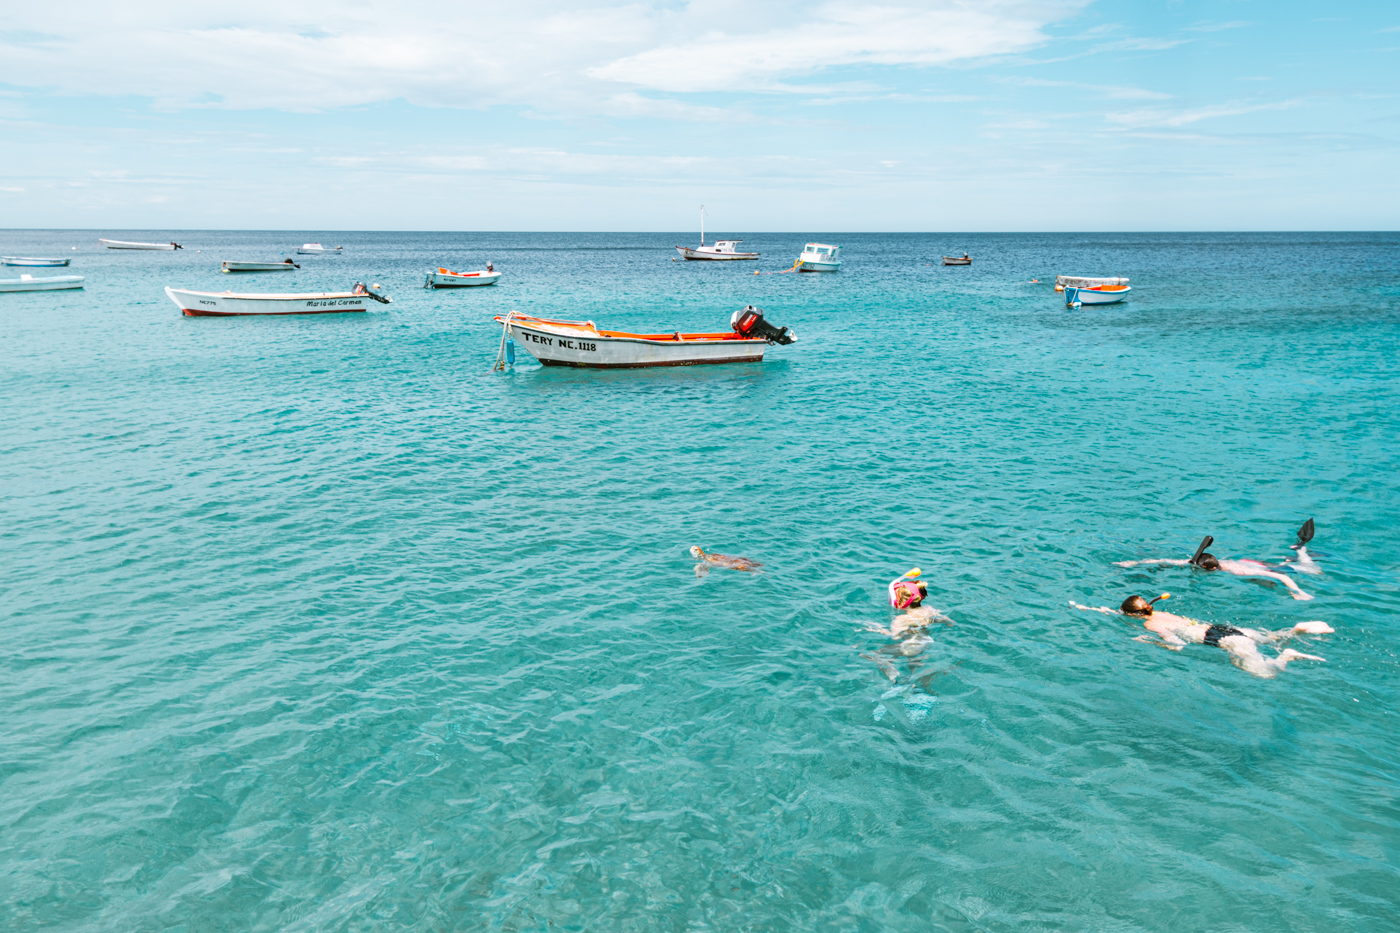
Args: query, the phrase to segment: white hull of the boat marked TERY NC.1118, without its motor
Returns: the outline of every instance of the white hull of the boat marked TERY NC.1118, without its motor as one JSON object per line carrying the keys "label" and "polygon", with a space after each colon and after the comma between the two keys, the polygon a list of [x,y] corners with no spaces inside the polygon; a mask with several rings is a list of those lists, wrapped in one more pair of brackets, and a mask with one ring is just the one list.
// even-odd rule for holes
{"label": "white hull of the boat marked TERY NC.1118, without its motor", "polygon": [[767,340],[742,338],[645,339],[588,333],[582,329],[554,329],[505,321],[505,331],[542,366],[573,366],[589,370],[634,370],[659,366],[708,366],[717,363],[762,363]]}

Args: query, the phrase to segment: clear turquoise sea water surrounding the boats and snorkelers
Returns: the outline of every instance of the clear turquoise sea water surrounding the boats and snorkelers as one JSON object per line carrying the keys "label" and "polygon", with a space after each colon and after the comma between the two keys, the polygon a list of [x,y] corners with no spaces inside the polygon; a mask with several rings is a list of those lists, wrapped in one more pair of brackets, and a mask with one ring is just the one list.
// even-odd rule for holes
{"label": "clear turquoise sea water surrounding the boats and snorkelers", "polygon": [[[671,262],[694,234],[97,235],[0,231],[88,276],[0,296],[0,927],[1400,925],[1400,235],[746,237],[841,242],[833,276]],[[308,240],[346,255],[217,273]],[[1133,300],[1065,311],[1057,272]],[[395,304],[161,291],[357,279]],[[749,301],[801,342],[487,373],[510,308]],[[1310,602],[1113,566],[1309,516]],[[914,565],[956,625],[892,685],[864,625]],[[1165,590],[1324,619],[1327,661],[1068,607]]]}

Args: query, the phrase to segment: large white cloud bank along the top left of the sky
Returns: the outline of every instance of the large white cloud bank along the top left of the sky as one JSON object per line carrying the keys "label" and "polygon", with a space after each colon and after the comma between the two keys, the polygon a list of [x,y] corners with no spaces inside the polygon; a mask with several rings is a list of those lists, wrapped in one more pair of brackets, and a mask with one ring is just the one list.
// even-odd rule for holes
{"label": "large white cloud bank along the top left of the sky", "polygon": [[[0,34],[0,83],[133,94],[165,108],[427,106],[742,122],[742,111],[643,92],[763,90],[839,66],[932,66],[1030,49],[1077,0],[932,0],[918,8],[708,0],[578,8],[561,0],[235,7],[78,0],[27,8]],[[235,11],[237,10],[237,11]]]}

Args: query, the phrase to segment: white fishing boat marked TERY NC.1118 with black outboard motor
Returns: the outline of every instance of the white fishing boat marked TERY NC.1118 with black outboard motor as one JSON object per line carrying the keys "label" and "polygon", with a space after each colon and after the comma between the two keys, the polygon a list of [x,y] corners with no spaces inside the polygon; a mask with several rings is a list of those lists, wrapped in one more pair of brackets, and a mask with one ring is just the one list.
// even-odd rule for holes
{"label": "white fishing boat marked TERY NC.1118 with black outboard motor", "polygon": [[599,331],[592,321],[554,321],[515,311],[496,318],[510,336],[545,366],[638,368],[762,363],[773,343],[788,345],[797,335],[763,319],[752,304],[735,311],[727,333],[629,333]]}

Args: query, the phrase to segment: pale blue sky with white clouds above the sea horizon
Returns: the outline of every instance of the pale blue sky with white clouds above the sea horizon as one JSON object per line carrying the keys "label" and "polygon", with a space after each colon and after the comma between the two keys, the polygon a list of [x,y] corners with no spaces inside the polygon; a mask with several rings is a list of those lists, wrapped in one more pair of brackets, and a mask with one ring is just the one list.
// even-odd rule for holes
{"label": "pale blue sky with white clouds above the sea horizon", "polygon": [[1400,4],[24,8],[0,227],[1396,230]]}

